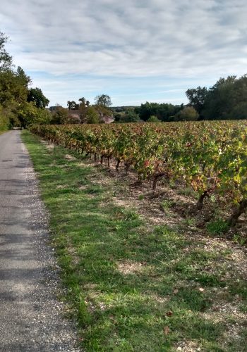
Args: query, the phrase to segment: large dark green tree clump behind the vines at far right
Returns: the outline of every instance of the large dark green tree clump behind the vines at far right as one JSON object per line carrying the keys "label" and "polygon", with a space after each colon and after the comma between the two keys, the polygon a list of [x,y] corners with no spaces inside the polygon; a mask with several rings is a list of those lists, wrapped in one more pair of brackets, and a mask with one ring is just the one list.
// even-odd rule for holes
{"label": "large dark green tree clump behind the vines at far right", "polygon": [[188,89],[186,95],[200,120],[247,118],[247,75],[219,78],[210,89]]}

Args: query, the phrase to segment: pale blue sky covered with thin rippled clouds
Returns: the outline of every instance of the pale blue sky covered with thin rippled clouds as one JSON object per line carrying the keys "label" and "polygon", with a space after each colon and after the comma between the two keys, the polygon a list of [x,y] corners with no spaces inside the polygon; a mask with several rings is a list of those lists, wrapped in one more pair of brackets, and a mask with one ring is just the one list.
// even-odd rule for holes
{"label": "pale blue sky covered with thin rippled clouds", "polygon": [[13,62],[49,106],[187,103],[186,89],[247,73],[246,0],[1,0]]}

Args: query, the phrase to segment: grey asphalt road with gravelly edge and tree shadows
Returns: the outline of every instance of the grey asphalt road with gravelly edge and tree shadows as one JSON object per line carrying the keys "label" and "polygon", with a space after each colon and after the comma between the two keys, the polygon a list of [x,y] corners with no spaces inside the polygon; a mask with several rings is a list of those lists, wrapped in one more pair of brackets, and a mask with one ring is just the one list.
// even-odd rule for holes
{"label": "grey asphalt road with gravelly edge and tree shadows", "polygon": [[0,351],[79,351],[20,131],[0,135]]}

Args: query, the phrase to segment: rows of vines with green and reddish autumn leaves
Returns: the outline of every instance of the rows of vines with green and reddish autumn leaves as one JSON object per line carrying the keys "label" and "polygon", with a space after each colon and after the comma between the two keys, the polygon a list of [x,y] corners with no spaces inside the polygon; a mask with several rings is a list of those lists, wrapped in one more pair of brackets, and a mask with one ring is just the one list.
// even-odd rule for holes
{"label": "rows of vines with green and reddish autumn leaves", "polygon": [[232,208],[235,225],[247,208],[247,122],[171,122],[123,125],[34,125],[31,132],[52,143],[134,170],[152,189],[162,178],[183,182]]}

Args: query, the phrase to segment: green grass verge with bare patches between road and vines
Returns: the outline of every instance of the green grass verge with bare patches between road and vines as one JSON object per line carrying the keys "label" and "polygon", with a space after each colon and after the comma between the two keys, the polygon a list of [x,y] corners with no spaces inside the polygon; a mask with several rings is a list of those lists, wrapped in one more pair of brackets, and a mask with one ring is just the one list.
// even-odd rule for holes
{"label": "green grass verge with bare patches between road and vines", "polygon": [[241,276],[237,284],[226,276],[222,258],[229,252],[205,251],[167,225],[150,230],[137,210],[115,205],[111,184],[91,181],[100,171],[82,157],[68,161],[68,150],[48,151],[29,132],[22,135],[85,351],[176,351],[183,341],[201,351],[246,351],[244,329],[227,342],[227,318],[205,318],[215,290],[229,287],[228,302],[246,295]]}

